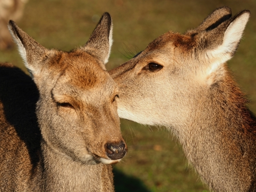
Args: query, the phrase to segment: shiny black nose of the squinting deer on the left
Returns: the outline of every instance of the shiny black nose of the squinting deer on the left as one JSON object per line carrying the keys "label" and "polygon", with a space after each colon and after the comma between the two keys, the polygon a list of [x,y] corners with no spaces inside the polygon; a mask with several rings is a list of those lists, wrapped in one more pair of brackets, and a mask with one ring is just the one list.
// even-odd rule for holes
{"label": "shiny black nose of the squinting deer on the left", "polygon": [[109,143],[106,145],[106,152],[107,152],[107,156],[110,159],[115,160],[115,159],[123,158],[127,152],[127,149],[124,143],[121,143],[121,144]]}

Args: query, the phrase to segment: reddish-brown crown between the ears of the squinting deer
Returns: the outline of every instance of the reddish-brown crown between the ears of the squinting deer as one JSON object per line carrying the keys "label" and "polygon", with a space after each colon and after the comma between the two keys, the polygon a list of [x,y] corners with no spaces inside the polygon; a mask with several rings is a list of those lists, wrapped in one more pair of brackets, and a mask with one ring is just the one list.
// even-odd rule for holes
{"label": "reddish-brown crown between the ears of the squinting deer", "polygon": [[48,61],[45,71],[53,76],[57,84],[69,83],[80,89],[90,89],[99,83],[113,81],[102,65],[98,58],[84,51],[58,51]]}

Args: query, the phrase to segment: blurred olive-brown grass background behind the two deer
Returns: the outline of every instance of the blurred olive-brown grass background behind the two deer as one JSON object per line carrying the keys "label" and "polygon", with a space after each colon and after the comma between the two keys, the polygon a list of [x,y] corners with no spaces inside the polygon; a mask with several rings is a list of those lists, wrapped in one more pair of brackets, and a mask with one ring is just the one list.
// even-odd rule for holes
{"label": "blurred olive-brown grass background behind the two deer", "polygon": [[[12,0],[0,0],[0,4],[6,4],[7,1]],[[17,20],[19,27],[45,47],[64,51],[86,43],[102,13],[109,12],[114,24],[114,43],[107,69],[124,63],[169,30],[184,33],[187,29],[197,27],[218,7],[228,6],[233,14],[249,9],[251,18],[243,39],[228,64],[241,89],[251,100],[250,109],[256,112],[256,0],[22,2],[21,7],[25,5],[23,16],[19,20],[12,17]],[[0,16],[1,13],[3,11],[0,9]],[[27,72],[16,47],[11,47],[8,45],[5,47],[7,49],[0,51],[0,62],[11,62]],[[207,186],[187,164],[171,132],[127,120],[121,120],[121,129],[129,152],[122,162],[114,166],[117,192],[207,192]]]}

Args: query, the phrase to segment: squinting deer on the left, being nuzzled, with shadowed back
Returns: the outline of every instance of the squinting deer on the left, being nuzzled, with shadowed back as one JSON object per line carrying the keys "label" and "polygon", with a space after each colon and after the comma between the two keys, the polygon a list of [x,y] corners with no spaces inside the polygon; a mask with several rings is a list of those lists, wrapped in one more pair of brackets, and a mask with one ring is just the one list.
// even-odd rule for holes
{"label": "squinting deer on the left, being nuzzled, with shadowed back", "polygon": [[69,52],[46,49],[12,20],[8,27],[32,78],[0,65],[0,191],[113,192],[111,164],[127,145],[105,68],[111,16]]}

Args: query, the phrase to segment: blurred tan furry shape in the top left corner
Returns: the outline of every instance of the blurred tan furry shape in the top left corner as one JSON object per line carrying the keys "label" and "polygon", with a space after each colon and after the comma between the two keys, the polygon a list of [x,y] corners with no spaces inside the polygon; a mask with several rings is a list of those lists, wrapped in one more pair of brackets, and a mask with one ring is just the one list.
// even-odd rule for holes
{"label": "blurred tan furry shape in the top left corner", "polygon": [[10,19],[20,20],[26,3],[27,0],[0,0],[0,49],[13,47],[13,40],[7,24]]}

